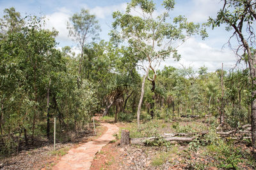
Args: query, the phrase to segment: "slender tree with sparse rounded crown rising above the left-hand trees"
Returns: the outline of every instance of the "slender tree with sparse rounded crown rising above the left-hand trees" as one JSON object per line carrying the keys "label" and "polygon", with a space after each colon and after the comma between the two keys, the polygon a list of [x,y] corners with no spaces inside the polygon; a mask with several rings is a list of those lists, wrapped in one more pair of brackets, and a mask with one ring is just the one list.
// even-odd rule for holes
{"label": "slender tree with sparse rounded crown rising above the left-hand trees", "polygon": [[[69,36],[72,37],[73,41],[78,42],[81,47],[81,57],[78,67],[78,73],[79,76],[81,76],[84,48],[89,38],[97,38],[100,26],[98,25],[95,15],[90,15],[89,11],[84,9],[81,9],[80,13],[75,13],[69,20],[70,22],[67,24]],[[82,78],[80,81],[82,81]]]}

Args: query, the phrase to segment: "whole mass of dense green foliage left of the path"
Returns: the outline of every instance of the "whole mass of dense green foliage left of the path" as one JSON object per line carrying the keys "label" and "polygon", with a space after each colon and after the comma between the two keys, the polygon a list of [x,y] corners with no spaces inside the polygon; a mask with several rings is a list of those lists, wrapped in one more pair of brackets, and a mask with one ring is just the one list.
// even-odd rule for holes
{"label": "whole mass of dense green foliage left of the path", "polygon": [[83,129],[98,99],[91,81],[77,84],[78,64],[70,48],[56,49],[58,32],[43,29],[43,18],[21,18],[14,8],[5,12],[0,21],[0,128],[1,153],[9,154],[19,146],[13,134],[22,132],[20,141],[24,131],[29,140],[44,136],[52,117],[58,117],[60,129]]}

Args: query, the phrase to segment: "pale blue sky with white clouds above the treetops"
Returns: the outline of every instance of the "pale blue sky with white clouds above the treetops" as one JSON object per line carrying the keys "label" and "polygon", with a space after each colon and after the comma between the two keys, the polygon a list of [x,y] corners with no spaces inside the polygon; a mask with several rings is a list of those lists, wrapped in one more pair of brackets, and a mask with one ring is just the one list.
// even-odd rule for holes
{"label": "pale blue sky with white clouds above the treetops", "polygon": [[[162,1],[154,1],[157,4],[157,11],[161,12]],[[108,33],[113,22],[113,11],[125,11],[129,0],[0,0],[0,17],[3,17],[5,8],[14,7],[24,17],[26,15],[44,15],[47,29],[54,27],[59,34],[56,41],[58,47],[72,46],[74,52],[78,52],[77,43],[68,37],[67,22],[74,13],[79,13],[81,8],[88,9],[91,14],[99,20],[102,31],[100,39],[109,40]],[[216,16],[222,5],[221,0],[176,0],[175,9],[171,11],[171,17],[184,15],[189,21],[195,23],[207,22],[209,17]],[[237,57],[225,45],[232,32],[225,31],[225,26],[217,29],[207,29],[209,37],[202,40],[199,36],[189,38],[179,46],[178,52],[181,55],[179,62],[172,57],[161,62],[159,69],[164,66],[193,67],[197,70],[205,66],[208,71],[215,71],[224,64],[224,69],[234,68]],[[241,67],[241,66],[240,66]]]}

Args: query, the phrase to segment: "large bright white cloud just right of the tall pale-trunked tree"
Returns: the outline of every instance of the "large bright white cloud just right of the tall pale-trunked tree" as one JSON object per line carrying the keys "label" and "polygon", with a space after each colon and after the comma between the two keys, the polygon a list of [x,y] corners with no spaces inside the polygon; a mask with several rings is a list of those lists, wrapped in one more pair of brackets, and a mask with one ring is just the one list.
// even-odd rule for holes
{"label": "large bright white cloud just right of the tall pale-trunked tree", "polygon": [[231,69],[237,61],[234,53],[230,50],[213,48],[205,43],[196,41],[195,38],[188,39],[186,43],[178,48],[178,52],[181,55],[179,62],[170,58],[161,64],[161,68],[164,65],[180,67],[180,64],[182,64],[186,67],[191,66],[195,70],[199,67],[206,66],[209,71],[215,71],[221,67],[222,62],[224,69]]}

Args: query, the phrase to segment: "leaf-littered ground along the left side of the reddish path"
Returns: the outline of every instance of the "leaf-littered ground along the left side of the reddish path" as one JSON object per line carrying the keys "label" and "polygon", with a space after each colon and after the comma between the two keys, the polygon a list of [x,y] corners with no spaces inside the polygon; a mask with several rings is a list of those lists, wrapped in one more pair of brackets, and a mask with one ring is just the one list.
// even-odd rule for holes
{"label": "leaf-littered ground along the left side of the reddish path", "polygon": [[61,157],[68,153],[68,150],[78,148],[88,141],[100,138],[107,130],[108,127],[97,124],[97,135],[94,134],[92,129],[79,132],[76,136],[73,136],[71,141],[65,143],[58,143],[57,141],[55,151],[51,141],[38,138],[33,145],[24,148],[19,154],[0,159],[0,169],[52,169],[61,160]]}

